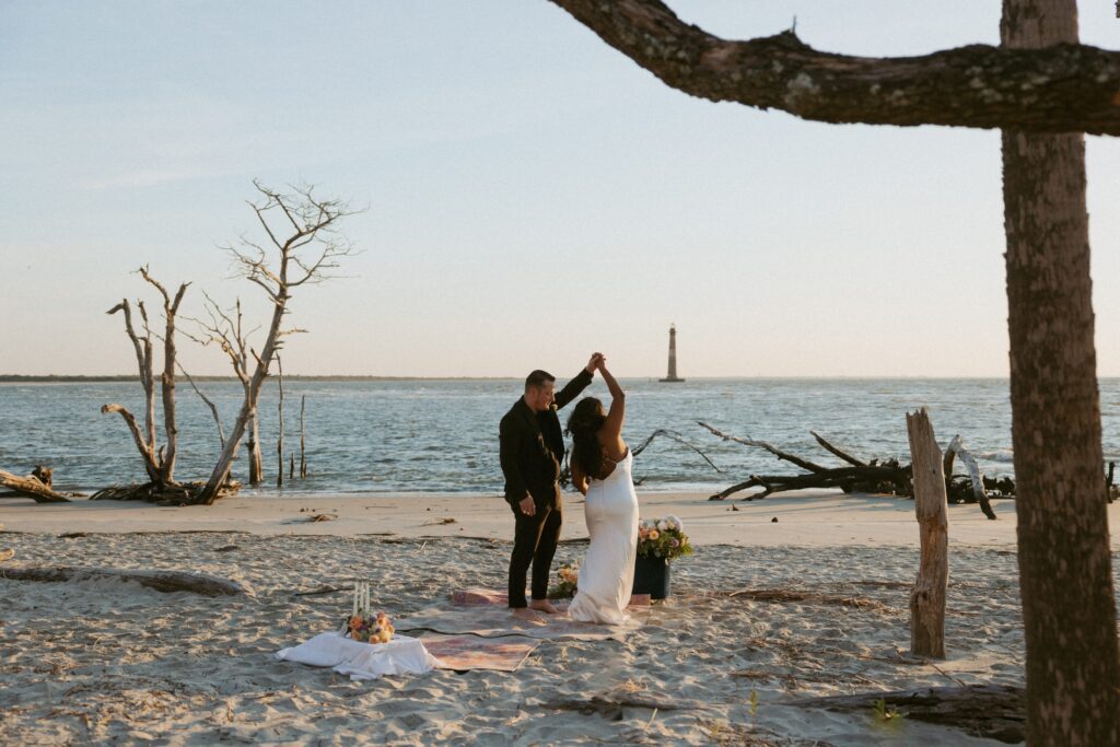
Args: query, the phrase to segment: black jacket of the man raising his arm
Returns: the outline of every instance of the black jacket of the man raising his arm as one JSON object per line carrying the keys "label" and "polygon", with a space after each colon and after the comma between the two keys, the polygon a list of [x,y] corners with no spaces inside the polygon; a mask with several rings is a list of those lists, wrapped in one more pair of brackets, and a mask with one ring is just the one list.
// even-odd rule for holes
{"label": "black jacket of the man raising his arm", "polygon": [[541,505],[550,505],[557,497],[557,478],[563,461],[563,432],[557,410],[591,383],[587,368],[556,393],[554,404],[543,412],[533,412],[519,399],[502,418],[498,442],[502,473],[505,475],[505,499],[516,505],[526,495]]}

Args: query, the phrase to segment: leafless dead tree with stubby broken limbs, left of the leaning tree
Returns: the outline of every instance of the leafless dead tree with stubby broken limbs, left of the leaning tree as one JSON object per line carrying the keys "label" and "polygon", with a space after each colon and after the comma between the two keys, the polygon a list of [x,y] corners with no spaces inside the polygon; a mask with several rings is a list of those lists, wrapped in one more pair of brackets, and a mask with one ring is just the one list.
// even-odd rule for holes
{"label": "leafless dead tree with stubby broken limbs, left of the leaning tree", "polygon": [[158,495],[160,488],[174,486],[175,482],[175,458],[178,446],[178,427],[175,418],[175,366],[176,366],[176,315],[179,304],[187,291],[189,282],[181,283],[172,297],[158,280],[151,277],[148,267],[138,270],[139,274],[149,284],[159,291],[164,299],[164,334],[160,339],[164,343],[164,371],[160,374],[160,392],[164,404],[164,429],[167,442],[164,446],[157,445],[156,439],[156,376],[152,361],[152,337],[149,326],[148,311],[143,301],[137,301],[140,310],[140,318],[143,323],[143,335],[139,334],[132,320],[132,307],[128,299],[111,308],[108,314],[124,312],[124,332],[132,342],[132,348],[137,356],[137,368],[140,374],[140,386],[144,394],[144,424],[141,430],[136,415],[122,404],[111,403],[102,405],[102,413],[119,412],[124,419],[132,440],[137,445],[137,450],[143,459],[144,471],[148,474],[149,485],[155,486],[155,491],[148,489],[144,496]]}

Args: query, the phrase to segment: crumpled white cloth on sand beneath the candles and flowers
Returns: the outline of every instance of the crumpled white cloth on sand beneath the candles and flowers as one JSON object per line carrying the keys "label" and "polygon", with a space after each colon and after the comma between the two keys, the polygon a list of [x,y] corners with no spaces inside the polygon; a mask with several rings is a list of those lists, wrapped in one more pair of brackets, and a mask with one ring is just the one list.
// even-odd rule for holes
{"label": "crumpled white cloth on sand beneath the candles and flowers", "polygon": [[383,674],[423,674],[439,666],[418,638],[394,636],[389,643],[368,644],[339,633],[320,633],[276,657],[311,666],[330,666],[352,680],[376,680]]}

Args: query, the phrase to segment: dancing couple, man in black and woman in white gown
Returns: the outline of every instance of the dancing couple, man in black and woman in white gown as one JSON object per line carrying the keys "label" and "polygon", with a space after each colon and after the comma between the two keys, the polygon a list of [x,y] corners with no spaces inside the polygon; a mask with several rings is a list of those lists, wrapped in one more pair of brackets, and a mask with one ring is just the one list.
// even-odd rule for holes
{"label": "dancing couple, man in black and woman in white gown", "polygon": [[[627,619],[637,551],[637,496],[631,478],[633,457],[622,439],[626,396],[596,353],[559,392],[556,377],[534,371],[525,393],[502,418],[501,461],[505,499],[516,521],[510,558],[510,607],[520,616],[557,611],[548,599],[552,557],[560,540],[562,501],[560,464],[564,443],[557,411],[575,400],[601,374],[610,408],[588,396],[568,419],[572,437],[571,477],[587,496],[585,513],[591,542],[579,569],[579,588],[568,607],[572,619],[618,625]],[[525,576],[533,567],[532,601],[525,599]]]}

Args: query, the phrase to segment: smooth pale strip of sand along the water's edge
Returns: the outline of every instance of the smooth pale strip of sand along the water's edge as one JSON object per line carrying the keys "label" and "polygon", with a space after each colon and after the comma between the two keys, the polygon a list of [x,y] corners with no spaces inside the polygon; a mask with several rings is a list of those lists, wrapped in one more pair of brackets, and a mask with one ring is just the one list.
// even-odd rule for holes
{"label": "smooth pale strip of sand along the water's edge", "polygon": [[[801,491],[748,502],[709,501],[703,493],[640,492],[638,503],[643,517],[679,516],[696,545],[920,545],[913,502],[893,496]],[[986,519],[976,504],[950,505],[951,545],[1016,545],[1014,501],[996,499],[992,506],[997,521]],[[316,514],[332,519],[310,521]],[[564,494],[563,514],[561,541],[587,538],[582,496]],[[1120,550],[1120,502],[1108,506],[1108,515],[1112,548]],[[31,534],[243,532],[512,540],[513,523],[508,505],[493,494],[232,496],[212,506],[181,507],[120,501],[0,501],[0,531]]]}

